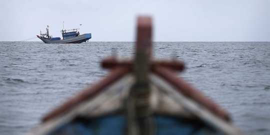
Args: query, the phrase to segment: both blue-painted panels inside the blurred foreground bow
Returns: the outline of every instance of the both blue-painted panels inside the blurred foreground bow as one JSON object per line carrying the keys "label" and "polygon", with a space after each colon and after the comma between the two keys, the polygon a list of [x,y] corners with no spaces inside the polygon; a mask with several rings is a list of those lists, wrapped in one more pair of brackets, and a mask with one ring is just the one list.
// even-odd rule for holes
{"label": "both blue-painted panels inside the blurred foreground bow", "polygon": [[[153,124],[157,135],[168,134],[223,134],[210,125],[199,120],[183,119],[170,116],[154,115]],[[89,135],[123,135],[126,118],[124,115],[107,115],[97,118],[78,117],[48,133],[55,134],[89,134]]]}

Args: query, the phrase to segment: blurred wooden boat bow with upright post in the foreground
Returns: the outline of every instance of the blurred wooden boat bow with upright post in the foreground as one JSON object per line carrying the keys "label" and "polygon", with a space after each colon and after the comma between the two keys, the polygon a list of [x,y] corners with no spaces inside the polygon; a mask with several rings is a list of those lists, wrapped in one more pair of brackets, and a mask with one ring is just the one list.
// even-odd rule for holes
{"label": "blurred wooden boat bow with upright post in the foreground", "polygon": [[182,61],[153,58],[151,26],[138,17],[134,58],[105,58],[109,74],[28,134],[240,134],[225,110],[177,75]]}

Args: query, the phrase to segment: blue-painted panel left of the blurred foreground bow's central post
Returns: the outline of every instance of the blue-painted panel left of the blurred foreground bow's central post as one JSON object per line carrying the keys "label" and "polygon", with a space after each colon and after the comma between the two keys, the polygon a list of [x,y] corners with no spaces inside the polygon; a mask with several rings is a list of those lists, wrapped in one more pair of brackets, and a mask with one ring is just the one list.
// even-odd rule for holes
{"label": "blue-painted panel left of the blurred foreground bow's central post", "polygon": [[99,118],[77,118],[73,121],[57,127],[48,135],[56,134],[95,134],[95,135],[118,135],[124,134],[125,118],[123,115],[108,115]]}

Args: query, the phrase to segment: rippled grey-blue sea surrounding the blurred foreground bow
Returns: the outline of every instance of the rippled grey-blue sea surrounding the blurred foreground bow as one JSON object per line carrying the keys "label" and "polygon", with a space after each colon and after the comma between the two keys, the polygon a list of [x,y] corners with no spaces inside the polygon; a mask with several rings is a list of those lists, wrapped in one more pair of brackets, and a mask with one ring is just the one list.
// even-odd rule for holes
{"label": "rippled grey-blue sea surrounding the blurred foreground bow", "polygon": [[[135,42],[0,42],[0,134],[24,134],[109,70]],[[178,72],[229,112],[243,134],[270,134],[270,42],[153,42],[154,58],[184,61]]]}

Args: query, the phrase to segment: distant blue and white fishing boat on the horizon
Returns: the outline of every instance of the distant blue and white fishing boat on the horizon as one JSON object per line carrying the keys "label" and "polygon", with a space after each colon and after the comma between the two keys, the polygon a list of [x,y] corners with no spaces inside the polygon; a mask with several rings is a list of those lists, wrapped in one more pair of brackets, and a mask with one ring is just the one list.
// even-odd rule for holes
{"label": "distant blue and white fishing boat on the horizon", "polygon": [[45,43],[81,43],[86,42],[91,38],[91,33],[81,34],[79,33],[79,28],[75,29],[63,29],[61,30],[62,39],[60,37],[52,37],[49,35],[48,25],[46,27],[46,33],[41,33],[40,36],[36,35]]}

